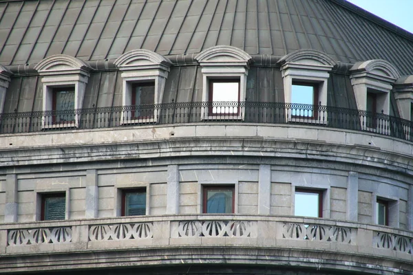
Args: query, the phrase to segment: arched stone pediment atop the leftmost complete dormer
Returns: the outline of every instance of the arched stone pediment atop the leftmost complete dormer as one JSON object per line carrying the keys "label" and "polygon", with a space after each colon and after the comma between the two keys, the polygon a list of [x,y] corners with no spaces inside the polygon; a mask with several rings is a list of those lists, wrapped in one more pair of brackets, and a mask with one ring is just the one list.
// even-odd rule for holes
{"label": "arched stone pediment atop the leftmost complete dormer", "polygon": [[91,69],[91,67],[73,56],[56,54],[54,56],[48,56],[40,61],[34,69],[36,69],[39,73],[58,73],[73,70],[87,72]]}

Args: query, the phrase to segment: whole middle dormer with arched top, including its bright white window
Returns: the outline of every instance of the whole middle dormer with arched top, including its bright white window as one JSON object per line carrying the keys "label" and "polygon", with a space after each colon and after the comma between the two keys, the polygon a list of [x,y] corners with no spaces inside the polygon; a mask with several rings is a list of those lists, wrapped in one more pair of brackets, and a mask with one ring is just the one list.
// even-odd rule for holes
{"label": "whole middle dormer with arched top, including its bright white window", "polygon": [[240,102],[246,97],[246,76],[251,56],[231,46],[215,46],[200,52],[195,59],[202,67],[203,120],[244,119]]}

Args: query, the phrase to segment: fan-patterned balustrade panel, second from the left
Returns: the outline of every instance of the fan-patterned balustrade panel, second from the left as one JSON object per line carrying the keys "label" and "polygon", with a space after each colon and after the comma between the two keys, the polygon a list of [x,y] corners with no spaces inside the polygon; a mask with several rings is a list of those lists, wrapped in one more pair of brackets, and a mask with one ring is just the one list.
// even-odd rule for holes
{"label": "fan-patterned balustrade panel, second from the left", "polygon": [[152,238],[153,223],[119,223],[92,225],[89,227],[89,241],[122,241]]}

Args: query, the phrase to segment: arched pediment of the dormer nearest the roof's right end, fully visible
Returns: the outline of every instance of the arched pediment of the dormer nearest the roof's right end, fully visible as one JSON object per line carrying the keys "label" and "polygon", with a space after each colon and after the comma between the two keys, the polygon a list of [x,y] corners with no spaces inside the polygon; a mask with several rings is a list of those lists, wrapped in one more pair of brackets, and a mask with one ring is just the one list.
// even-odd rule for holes
{"label": "arched pediment of the dormer nearest the roof's right end, fully visible", "polygon": [[366,72],[375,76],[385,76],[396,80],[400,77],[399,71],[388,61],[374,59],[356,63],[350,71]]}

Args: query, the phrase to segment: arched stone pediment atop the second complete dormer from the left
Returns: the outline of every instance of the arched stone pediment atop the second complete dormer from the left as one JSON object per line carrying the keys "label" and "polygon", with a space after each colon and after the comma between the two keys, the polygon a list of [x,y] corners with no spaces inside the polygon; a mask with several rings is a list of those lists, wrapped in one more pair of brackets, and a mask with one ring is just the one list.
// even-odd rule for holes
{"label": "arched stone pediment atop the second complete dormer from the left", "polygon": [[114,62],[116,67],[120,69],[127,69],[127,68],[134,68],[137,67],[147,67],[147,66],[159,66],[162,65],[164,67],[171,66],[171,61],[165,56],[161,56],[156,52],[152,52],[149,50],[138,49],[138,50],[131,50],[121,56],[119,56],[116,61]]}

